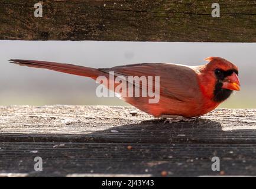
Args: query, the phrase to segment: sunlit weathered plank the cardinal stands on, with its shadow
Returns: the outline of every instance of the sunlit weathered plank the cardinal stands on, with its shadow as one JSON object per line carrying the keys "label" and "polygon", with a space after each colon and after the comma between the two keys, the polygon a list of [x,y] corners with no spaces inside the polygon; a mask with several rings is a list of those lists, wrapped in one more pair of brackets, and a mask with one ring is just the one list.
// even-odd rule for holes
{"label": "sunlit weathered plank the cardinal stands on, with its shadow", "polygon": [[[0,142],[256,143],[255,109],[218,109],[163,124],[121,106],[0,107]],[[116,132],[118,131],[118,132]]]}

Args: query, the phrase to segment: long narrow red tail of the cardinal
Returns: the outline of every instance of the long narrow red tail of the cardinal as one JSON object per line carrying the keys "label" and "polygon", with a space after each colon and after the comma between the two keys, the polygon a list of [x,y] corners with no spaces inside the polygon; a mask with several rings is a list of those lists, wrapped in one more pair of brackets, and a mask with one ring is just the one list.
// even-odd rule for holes
{"label": "long narrow red tail of the cardinal", "polygon": [[48,69],[54,71],[60,71],[63,73],[74,74],[77,76],[85,76],[92,77],[96,79],[96,77],[101,76],[102,71],[98,69],[94,69],[91,67],[84,66],[76,66],[73,64],[62,64],[62,63],[54,63],[50,61],[37,61],[37,60],[18,60],[11,59],[10,63],[19,64],[20,66],[28,66],[40,69]]}

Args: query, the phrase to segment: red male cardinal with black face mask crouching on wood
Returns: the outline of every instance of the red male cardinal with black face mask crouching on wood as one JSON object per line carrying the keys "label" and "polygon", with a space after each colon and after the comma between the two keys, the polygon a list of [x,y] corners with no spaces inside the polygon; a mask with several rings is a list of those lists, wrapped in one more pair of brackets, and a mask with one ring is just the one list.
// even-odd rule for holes
{"label": "red male cardinal with black face mask crouching on wood", "polygon": [[228,99],[233,90],[240,90],[238,67],[219,57],[209,57],[205,60],[209,63],[203,66],[143,63],[110,69],[35,60],[10,61],[21,66],[60,71],[95,80],[98,76],[109,78],[109,71],[124,77],[160,76],[158,103],[148,103],[148,97],[124,97],[124,100],[155,117],[180,119],[204,115]]}

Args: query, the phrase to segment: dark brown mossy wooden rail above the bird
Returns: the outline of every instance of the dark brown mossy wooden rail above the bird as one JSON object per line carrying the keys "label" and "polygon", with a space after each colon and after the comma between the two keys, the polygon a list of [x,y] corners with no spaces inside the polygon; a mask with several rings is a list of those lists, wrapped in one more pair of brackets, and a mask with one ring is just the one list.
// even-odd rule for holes
{"label": "dark brown mossy wooden rail above the bird", "polygon": [[0,40],[255,42],[256,1],[0,0]]}

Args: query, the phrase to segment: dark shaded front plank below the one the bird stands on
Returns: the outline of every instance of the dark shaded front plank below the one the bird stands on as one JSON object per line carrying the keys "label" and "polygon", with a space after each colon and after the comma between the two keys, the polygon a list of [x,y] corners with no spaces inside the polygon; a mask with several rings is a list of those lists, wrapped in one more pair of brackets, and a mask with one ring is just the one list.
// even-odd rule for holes
{"label": "dark shaded front plank below the one the bird stands on", "polygon": [[[220,175],[212,171],[218,156],[224,175],[255,175],[256,145],[239,144],[89,144],[0,143],[0,176],[98,177]],[[59,145],[57,147],[54,147]],[[43,159],[43,171],[34,171],[34,158]],[[224,172],[223,172],[224,171]]]}

